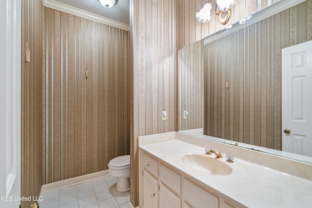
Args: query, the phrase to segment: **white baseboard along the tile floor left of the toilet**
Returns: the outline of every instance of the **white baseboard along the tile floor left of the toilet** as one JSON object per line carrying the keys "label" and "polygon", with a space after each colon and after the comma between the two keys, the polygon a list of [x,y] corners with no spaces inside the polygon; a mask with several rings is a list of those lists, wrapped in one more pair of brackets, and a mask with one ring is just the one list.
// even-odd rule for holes
{"label": "white baseboard along the tile floor left of the toilet", "polygon": [[[68,186],[73,186],[76,184],[80,184],[86,181],[94,180],[94,179],[101,178],[101,177],[108,176],[108,175],[109,175],[108,170],[102,170],[102,171],[98,171],[98,172],[94,172],[94,173],[90,173],[86,175],[81,175],[81,176],[74,177],[74,178],[57,181],[57,182],[50,183],[50,184],[45,184],[45,185],[42,185],[39,196],[43,196],[44,192],[47,192],[47,191],[60,189],[60,188],[68,187]],[[40,207],[41,201],[38,201],[38,204]]]}

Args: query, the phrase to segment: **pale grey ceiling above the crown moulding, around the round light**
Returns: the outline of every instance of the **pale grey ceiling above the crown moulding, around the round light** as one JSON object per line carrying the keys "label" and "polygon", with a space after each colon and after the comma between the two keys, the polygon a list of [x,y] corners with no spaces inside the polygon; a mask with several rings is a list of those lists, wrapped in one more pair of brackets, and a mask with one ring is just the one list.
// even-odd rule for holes
{"label": "pale grey ceiling above the crown moulding, around the round light", "polygon": [[105,8],[98,0],[55,0],[87,12],[91,12],[108,19],[129,24],[130,23],[130,0],[116,0],[111,8]]}

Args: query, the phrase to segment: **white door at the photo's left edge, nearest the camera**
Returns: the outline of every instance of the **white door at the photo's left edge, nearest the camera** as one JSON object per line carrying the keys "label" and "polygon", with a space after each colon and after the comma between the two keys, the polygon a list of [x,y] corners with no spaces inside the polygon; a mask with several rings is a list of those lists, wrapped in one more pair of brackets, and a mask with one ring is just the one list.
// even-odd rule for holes
{"label": "white door at the photo's left edge, nearest the camera", "polygon": [[21,1],[0,6],[0,207],[20,205]]}

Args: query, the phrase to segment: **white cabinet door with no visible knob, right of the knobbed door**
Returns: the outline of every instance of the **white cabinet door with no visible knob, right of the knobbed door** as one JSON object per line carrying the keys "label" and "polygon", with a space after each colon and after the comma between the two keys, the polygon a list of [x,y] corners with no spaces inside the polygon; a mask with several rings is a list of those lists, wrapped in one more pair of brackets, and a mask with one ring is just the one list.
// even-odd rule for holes
{"label": "white cabinet door with no visible knob, right of the knobbed door", "polygon": [[164,185],[159,185],[159,208],[181,208],[181,198]]}

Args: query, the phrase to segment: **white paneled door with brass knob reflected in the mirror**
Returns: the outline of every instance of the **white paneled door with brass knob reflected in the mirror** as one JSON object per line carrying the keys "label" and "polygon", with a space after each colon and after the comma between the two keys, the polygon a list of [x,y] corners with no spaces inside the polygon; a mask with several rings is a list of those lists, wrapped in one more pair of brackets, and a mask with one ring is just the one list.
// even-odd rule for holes
{"label": "white paneled door with brass knob reflected in the mirror", "polygon": [[282,49],[282,151],[312,156],[311,119],[312,41],[308,41]]}

